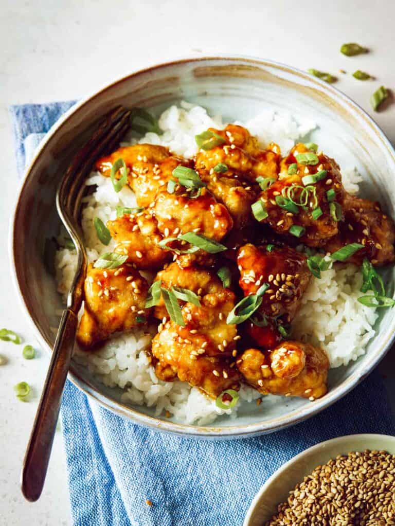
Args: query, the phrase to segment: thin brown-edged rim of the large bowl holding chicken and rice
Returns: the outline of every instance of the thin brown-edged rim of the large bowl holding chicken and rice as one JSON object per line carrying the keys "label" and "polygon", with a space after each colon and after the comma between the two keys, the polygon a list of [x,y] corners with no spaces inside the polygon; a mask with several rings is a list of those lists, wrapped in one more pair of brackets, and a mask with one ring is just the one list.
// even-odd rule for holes
{"label": "thin brown-edged rim of the large bowl holding chicken and rice", "polygon": [[[104,93],[105,91],[109,89],[113,89],[118,84],[127,82],[128,79],[139,76],[141,74],[147,73],[147,72],[155,72],[155,70],[160,68],[166,68],[174,65],[183,65],[183,64],[194,64],[199,62],[207,62],[207,61],[220,61],[220,60],[227,60],[228,62],[234,62],[234,63],[248,63],[251,66],[256,65],[257,67],[266,67],[271,68],[275,70],[282,70],[283,72],[295,75],[301,80],[307,80],[310,84],[316,85],[317,88],[321,90],[321,92],[326,93],[328,96],[330,96],[332,99],[335,98],[336,100],[339,100],[339,102],[342,103],[343,107],[348,106],[348,110],[351,110],[351,112],[355,113],[358,118],[364,119],[365,124],[369,125],[372,132],[374,132],[377,135],[377,138],[381,141],[383,146],[386,147],[389,159],[392,159],[394,169],[395,169],[395,150],[392,147],[389,139],[387,138],[386,134],[381,130],[381,128],[374,122],[374,120],[370,117],[370,115],[365,112],[364,109],[362,109],[357,103],[353,102],[352,99],[350,99],[347,95],[342,93],[339,89],[333,87],[332,85],[328,85],[327,83],[323,82],[322,80],[311,76],[310,74],[303,72],[302,70],[295,68],[293,66],[288,66],[285,64],[281,64],[278,62],[275,62],[273,60],[268,59],[261,59],[258,57],[252,57],[252,56],[244,56],[244,55],[226,55],[226,54],[216,54],[212,56],[199,56],[199,57],[190,57],[190,58],[179,58],[170,60],[169,62],[163,62],[159,64],[153,64],[150,66],[147,66],[143,69],[135,70],[134,72],[124,75],[116,80],[114,82],[106,84],[104,87],[100,88],[99,90],[95,91],[93,94],[87,96],[86,98],[80,100],[75,105],[73,105],[71,108],[69,108],[64,115],[62,115],[57,122],[50,128],[50,130],[47,132],[46,136],[43,138],[43,140],[40,142],[34,157],[30,161],[29,165],[25,169],[24,177],[20,183],[18,194],[15,200],[15,206],[14,206],[14,212],[10,219],[10,228],[9,228],[9,257],[10,257],[10,263],[11,263],[11,274],[12,274],[12,280],[14,282],[15,289],[17,291],[17,296],[19,298],[19,301],[22,305],[23,311],[25,313],[25,316],[29,320],[29,323],[33,329],[33,332],[38,339],[40,345],[45,348],[47,351],[52,352],[52,348],[49,345],[49,342],[45,339],[44,335],[41,333],[40,328],[36,323],[33,321],[32,317],[29,314],[29,307],[27,305],[27,301],[25,301],[21,285],[18,281],[18,272],[17,272],[17,262],[16,262],[16,254],[15,254],[15,245],[17,242],[16,239],[16,222],[17,222],[17,216],[19,212],[19,202],[21,201],[21,198],[24,193],[24,189],[26,186],[26,183],[29,179],[29,176],[31,175],[31,171],[34,169],[35,164],[37,163],[38,158],[42,155],[43,150],[46,148],[46,146],[50,143],[54,135],[57,133],[57,131],[62,128],[65,123],[73,117],[74,114],[78,113],[81,108],[88,104],[92,104],[95,101],[95,98]],[[68,379],[74,383],[74,385],[80,389],[82,392],[84,392],[88,397],[90,397],[93,400],[96,400],[100,405],[105,407],[106,409],[109,409],[110,411],[118,414],[122,417],[127,417],[130,420],[133,420],[136,423],[139,423],[143,426],[153,428],[153,429],[159,429],[161,431],[170,432],[174,434],[178,434],[180,436],[189,436],[189,437],[196,437],[196,438],[245,438],[245,437],[251,437],[256,436],[259,434],[274,432],[283,428],[286,428],[288,426],[294,425],[296,423],[302,422],[303,420],[306,420],[307,418],[310,418],[317,414],[318,412],[322,411],[323,409],[326,409],[329,407],[332,403],[335,403],[337,400],[345,396],[351,389],[356,387],[360,381],[362,381],[369,372],[372,371],[372,369],[377,365],[377,363],[386,355],[388,352],[391,343],[395,340],[395,319],[390,324],[391,326],[391,333],[390,336],[387,338],[386,341],[384,341],[378,349],[374,356],[372,356],[370,359],[367,359],[367,362],[364,364],[364,367],[360,370],[354,372],[351,376],[346,378],[341,385],[337,386],[335,389],[332,389],[329,391],[324,397],[317,399],[310,404],[305,404],[305,406],[297,408],[290,413],[281,415],[280,417],[276,417],[274,419],[270,419],[269,421],[260,421],[255,422],[251,424],[236,424],[231,426],[195,426],[193,424],[183,424],[178,422],[171,422],[171,421],[165,421],[161,420],[157,417],[152,417],[147,414],[141,413],[134,408],[124,404],[123,402],[116,401],[114,399],[109,399],[106,395],[103,393],[100,393],[96,388],[90,387],[87,385],[85,380],[79,376],[77,371],[69,371],[68,373]]]}

